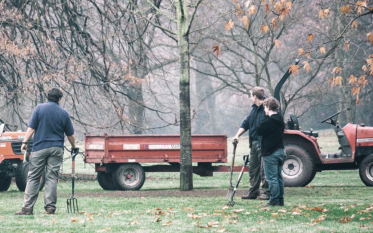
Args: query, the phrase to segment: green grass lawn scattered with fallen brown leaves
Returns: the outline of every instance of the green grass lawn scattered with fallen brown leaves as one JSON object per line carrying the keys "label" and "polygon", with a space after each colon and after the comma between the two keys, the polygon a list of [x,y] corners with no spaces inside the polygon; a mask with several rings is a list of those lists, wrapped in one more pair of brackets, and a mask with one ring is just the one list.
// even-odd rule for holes
{"label": "green grass lawn scattered with fallen brown leaves", "polygon": [[[318,139],[323,152],[334,152],[335,135],[325,132]],[[244,139],[244,140],[242,140]],[[248,142],[242,138],[236,151],[236,164],[248,153]],[[326,150],[327,149],[327,150]],[[231,156],[232,145],[228,145]],[[239,159],[238,159],[239,158]],[[230,158],[229,160],[230,161]],[[63,173],[69,173],[69,162]],[[88,164],[77,161],[79,173],[94,173]],[[236,179],[238,173],[234,174]],[[357,170],[323,171],[316,174],[310,188],[285,188],[285,207],[266,208],[265,202],[241,200],[248,189],[244,174],[233,208],[223,209],[225,195],[175,195],[179,187],[178,173],[147,173],[142,191],[154,196],[113,197],[97,182],[76,182],[75,192],[81,214],[67,214],[66,198],[71,184],[58,184],[57,214],[44,214],[43,191],[35,204],[34,215],[17,216],[23,193],[15,184],[0,194],[0,226],[3,232],[373,232],[373,188],[366,187]],[[167,179],[164,179],[167,177]],[[194,175],[195,192],[228,190],[229,174],[213,177]],[[89,193],[102,195],[90,196]],[[169,196],[157,196],[170,192]],[[209,193],[209,192],[207,192]],[[109,197],[110,196],[110,197]]]}

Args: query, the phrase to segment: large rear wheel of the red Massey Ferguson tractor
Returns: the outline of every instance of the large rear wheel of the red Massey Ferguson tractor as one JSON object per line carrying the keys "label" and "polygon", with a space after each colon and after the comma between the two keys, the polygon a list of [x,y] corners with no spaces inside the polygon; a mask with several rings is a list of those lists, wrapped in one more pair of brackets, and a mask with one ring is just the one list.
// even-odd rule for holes
{"label": "large rear wheel of the red Massey Ferguson tractor", "polygon": [[286,158],[282,166],[285,187],[304,187],[316,175],[316,164],[311,154],[299,145],[285,145]]}

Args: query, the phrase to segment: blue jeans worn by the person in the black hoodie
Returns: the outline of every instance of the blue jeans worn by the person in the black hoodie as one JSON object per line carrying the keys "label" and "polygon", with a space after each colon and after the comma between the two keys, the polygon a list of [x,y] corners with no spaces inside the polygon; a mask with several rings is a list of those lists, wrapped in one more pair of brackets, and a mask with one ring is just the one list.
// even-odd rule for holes
{"label": "blue jeans worn by the person in the black hoodie", "polygon": [[270,155],[263,156],[264,173],[269,183],[269,203],[279,204],[283,200],[282,165],[285,161],[285,149],[278,149]]}

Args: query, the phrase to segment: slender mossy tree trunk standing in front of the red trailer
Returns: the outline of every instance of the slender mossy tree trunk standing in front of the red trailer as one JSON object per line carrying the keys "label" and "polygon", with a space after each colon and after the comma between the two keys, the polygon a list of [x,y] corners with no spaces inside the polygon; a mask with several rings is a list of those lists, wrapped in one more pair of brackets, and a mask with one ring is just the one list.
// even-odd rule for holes
{"label": "slender mossy tree trunk standing in front of the red trailer", "polygon": [[[180,64],[180,191],[193,189],[192,135],[189,95],[189,38],[186,2],[178,7],[178,48]],[[184,13],[183,13],[184,12]]]}

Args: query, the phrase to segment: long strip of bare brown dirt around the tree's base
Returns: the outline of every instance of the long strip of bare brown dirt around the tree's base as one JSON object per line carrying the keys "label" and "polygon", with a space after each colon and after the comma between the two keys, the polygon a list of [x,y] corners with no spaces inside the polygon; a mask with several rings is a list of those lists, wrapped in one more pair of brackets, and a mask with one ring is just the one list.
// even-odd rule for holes
{"label": "long strip of bare brown dirt around the tree's base", "polygon": [[[154,197],[154,196],[225,196],[228,189],[195,189],[193,191],[180,192],[178,190],[147,190],[147,191],[107,191],[107,192],[81,192],[76,196],[94,197]],[[237,190],[235,198],[247,194],[247,190]]]}

